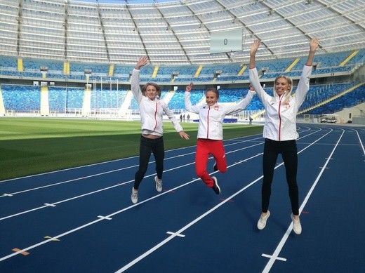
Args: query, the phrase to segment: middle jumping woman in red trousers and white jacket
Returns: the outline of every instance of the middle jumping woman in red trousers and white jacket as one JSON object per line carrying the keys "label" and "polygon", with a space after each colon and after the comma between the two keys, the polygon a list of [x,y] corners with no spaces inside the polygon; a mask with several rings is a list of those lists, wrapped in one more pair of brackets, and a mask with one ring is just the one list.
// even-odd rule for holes
{"label": "middle jumping woman in red trousers and white jacket", "polygon": [[227,161],[225,148],[223,147],[223,120],[227,114],[234,114],[244,110],[251,102],[255,92],[250,88],[246,98],[237,105],[218,104],[219,92],[216,88],[208,88],[206,91],[206,103],[192,105],[190,92],[193,83],[185,88],[185,108],[187,111],[199,114],[199,126],[197,135],[197,152],[195,153],[195,171],[206,186],[211,187],[215,194],[220,194],[220,187],[215,176],[210,176],[206,171],[209,155],[215,159],[213,171],[225,173]]}

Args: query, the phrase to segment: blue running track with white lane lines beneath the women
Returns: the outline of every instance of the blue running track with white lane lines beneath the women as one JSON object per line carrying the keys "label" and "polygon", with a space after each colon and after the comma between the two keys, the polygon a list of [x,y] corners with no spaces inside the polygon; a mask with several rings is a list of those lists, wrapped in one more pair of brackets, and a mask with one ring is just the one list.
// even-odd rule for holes
{"label": "blue running track with white lane lines beneath the women", "polygon": [[[244,130],[244,129],[243,129]],[[260,216],[263,138],[225,140],[222,193],[197,178],[195,147],[166,151],[131,188],[138,157],[0,181],[0,272],[365,272],[365,127],[298,124],[303,232],[279,157]]]}

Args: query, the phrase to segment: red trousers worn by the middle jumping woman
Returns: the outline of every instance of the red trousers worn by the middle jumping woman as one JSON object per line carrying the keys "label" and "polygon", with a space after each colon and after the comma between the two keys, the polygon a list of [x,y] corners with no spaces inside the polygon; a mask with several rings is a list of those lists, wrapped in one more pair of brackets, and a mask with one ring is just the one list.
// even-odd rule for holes
{"label": "red trousers worn by the middle jumping woman", "polygon": [[198,138],[197,153],[195,154],[195,171],[201,180],[206,183],[208,187],[213,187],[213,179],[206,171],[209,154],[212,154],[215,162],[217,162],[218,170],[221,173],[227,171],[227,161],[225,160],[225,148],[223,147],[223,140],[208,140]]}

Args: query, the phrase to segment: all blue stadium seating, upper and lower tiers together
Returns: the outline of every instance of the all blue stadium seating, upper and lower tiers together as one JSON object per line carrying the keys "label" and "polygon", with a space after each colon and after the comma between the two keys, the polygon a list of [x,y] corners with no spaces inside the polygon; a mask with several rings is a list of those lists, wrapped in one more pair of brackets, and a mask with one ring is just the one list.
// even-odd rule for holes
{"label": "all blue stadium seating, upper and lower tiers together", "polygon": [[[314,69],[312,74],[334,74],[344,73],[349,74],[352,69],[364,64],[365,49],[358,52],[343,52],[343,53],[328,53],[316,55],[314,60]],[[272,80],[281,74],[296,77],[300,76],[305,64],[306,58],[287,58],[283,60],[260,60],[257,62],[257,69],[260,74],[260,79]],[[75,80],[92,83],[98,81],[107,85],[110,80],[121,81],[121,83],[129,84],[133,65],[111,65],[111,64],[95,64],[71,62],[69,63],[69,72],[64,74],[64,62],[60,60],[40,60],[34,58],[23,58],[22,62],[18,62],[18,58],[14,56],[0,56],[0,77],[13,76],[25,79],[34,80],[50,80],[64,81]],[[46,69],[46,75],[42,74],[41,69]],[[86,79],[86,71],[91,72]],[[112,74],[112,76],[109,76]],[[204,89],[199,87],[199,84],[225,84],[234,83],[237,81],[248,81],[247,65],[238,63],[232,64],[217,64],[217,65],[175,65],[175,66],[153,66],[147,65],[141,69],[140,83],[156,82],[157,84],[165,84],[178,86],[178,90],[170,93],[167,103],[170,109],[175,112],[181,112],[185,109],[184,105],[184,90],[183,86],[189,82],[197,83],[197,89],[192,91],[192,104],[197,104],[204,101]],[[180,86],[179,86],[180,84]],[[364,87],[356,88],[350,93],[340,95],[348,88],[357,84],[311,84],[310,91],[300,111],[310,109],[307,114],[321,114],[323,112],[331,113],[350,107],[364,101]],[[165,87],[162,85],[162,87]],[[39,112],[40,111],[40,87],[39,86],[18,86],[11,84],[1,85],[4,107],[7,111],[14,112]],[[48,100],[50,112],[79,112],[83,107],[84,88],[81,87],[55,87],[48,86]],[[268,93],[272,93],[272,88],[265,88]],[[295,90],[295,88],[294,88]],[[164,99],[168,94],[169,89],[162,90],[161,98]],[[91,109],[94,112],[100,109],[118,109],[121,107],[124,98],[126,97],[127,88],[113,88],[109,86],[100,88],[91,92]],[[220,88],[220,102],[234,103],[239,102],[246,90],[242,88]],[[171,97],[171,98],[170,98]],[[324,102],[326,102],[324,104]],[[316,105],[316,107],[314,107]],[[128,109],[133,112],[138,112],[138,105],[134,98]],[[258,111],[263,109],[263,105],[257,96],[255,96],[248,110]]]}

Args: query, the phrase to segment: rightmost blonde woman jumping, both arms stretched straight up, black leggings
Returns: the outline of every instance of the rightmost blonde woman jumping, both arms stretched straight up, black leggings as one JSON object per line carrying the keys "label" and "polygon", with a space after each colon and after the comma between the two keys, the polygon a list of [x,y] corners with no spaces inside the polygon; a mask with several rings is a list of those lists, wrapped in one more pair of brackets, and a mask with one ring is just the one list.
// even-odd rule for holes
{"label": "rightmost blonde woman jumping, both arms stretched straight up, black leggings", "polygon": [[293,81],[287,76],[278,76],[275,79],[273,95],[265,93],[263,87],[260,85],[258,72],[255,67],[255,55],[259,46],[260,41],[258,40],[254,41],[251,46],[249,69],[251,84],[258,94],[258,98],[263,102],[266,115],[263,129],[265,146],[263,153],[263,185],[261,189],[262,213],[258,220],[258,229],[263,229],[266,226],[267,218],[270,216],[268,208],[271,184],[274,177],[274,167],[278,155],[281,154],[286,169],[286,182],[288,183],[289,197],[291,200],[293,230],[296,234],[300,234],[302,232],[302,226],[299,220],[299,193],[296,180],[298,169],[296,139],[299,135],[296,131],[296,115],[310,88],[312,62],[314,53],[319,46],[319,40],[312,39],[310,41],[310,51],[300,76],[295,96],[291,96]]}

